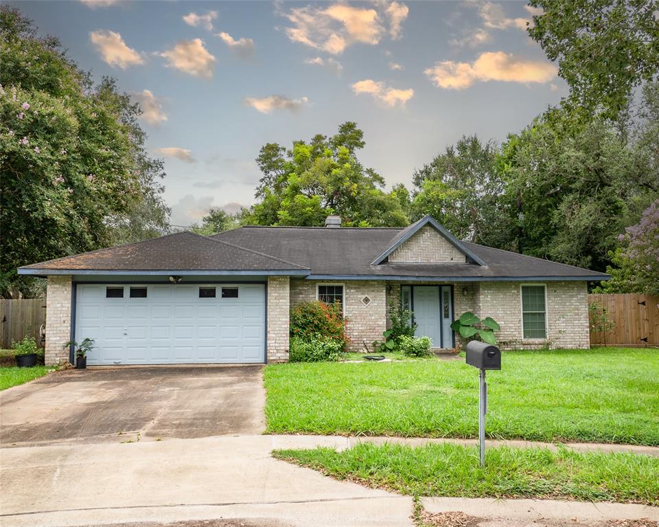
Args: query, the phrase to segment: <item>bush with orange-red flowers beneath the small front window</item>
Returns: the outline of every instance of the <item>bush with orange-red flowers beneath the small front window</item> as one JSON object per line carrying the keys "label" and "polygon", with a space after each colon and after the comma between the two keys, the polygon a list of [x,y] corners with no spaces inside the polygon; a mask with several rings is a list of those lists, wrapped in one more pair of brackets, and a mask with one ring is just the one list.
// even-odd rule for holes
{"label": "bush with orange-red flowers beneath the small front window", "polygon": [[290,336],[307,341],[330,338],[340,343],[340,351],[345,351],[349,340],[340,303],[314,301],[295,307],[290,312]]}

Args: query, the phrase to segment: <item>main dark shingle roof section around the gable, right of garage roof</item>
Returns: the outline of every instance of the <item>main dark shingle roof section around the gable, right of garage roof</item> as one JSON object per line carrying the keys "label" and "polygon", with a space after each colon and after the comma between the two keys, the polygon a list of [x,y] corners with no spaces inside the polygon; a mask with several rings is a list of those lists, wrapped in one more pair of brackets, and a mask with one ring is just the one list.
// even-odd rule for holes
{"label": "main dark shingle roof section around the gable, right of garage roof", "polygon": [[311,269],[312,274],[373,277],[463,277],[465,279],[569,277],[601,280],[608,274],[554,261],[463,242],[485,266],[477,264],[371,265],[406,229],[325,227],[241,227],[213,236],[268,253]]}

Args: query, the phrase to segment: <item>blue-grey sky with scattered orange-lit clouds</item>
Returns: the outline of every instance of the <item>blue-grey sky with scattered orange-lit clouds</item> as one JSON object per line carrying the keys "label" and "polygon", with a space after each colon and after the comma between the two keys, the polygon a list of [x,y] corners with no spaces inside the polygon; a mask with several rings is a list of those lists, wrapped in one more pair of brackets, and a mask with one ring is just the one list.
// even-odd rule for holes
{"label": "blue-grey sky with scattered orange-lit clouds", "polygon": [[253,202],[267,142],[365,131],[391,187],[462,134],[505,139],[566,95],[523,2],[20,2],[143,108],[172,224]]}

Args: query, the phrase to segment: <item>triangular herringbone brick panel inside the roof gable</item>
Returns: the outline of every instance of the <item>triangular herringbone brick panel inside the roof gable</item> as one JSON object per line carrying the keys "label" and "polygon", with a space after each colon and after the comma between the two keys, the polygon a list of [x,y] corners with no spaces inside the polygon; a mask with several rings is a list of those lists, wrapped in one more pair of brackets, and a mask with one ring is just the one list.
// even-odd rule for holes
{"label": "triangular herringbone brick panel inside the roof gable", "polygon": [[436,264],[451,262],[464,264],[465,255],[430,225],[421,227],[410,239],[389,255],[389,261],[398,263]]}

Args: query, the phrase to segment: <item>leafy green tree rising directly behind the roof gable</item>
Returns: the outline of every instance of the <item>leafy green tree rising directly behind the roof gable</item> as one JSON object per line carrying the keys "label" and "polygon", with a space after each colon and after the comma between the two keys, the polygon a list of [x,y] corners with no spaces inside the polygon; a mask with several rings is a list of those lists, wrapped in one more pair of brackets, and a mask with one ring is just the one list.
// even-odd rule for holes
{"label": "leafy green tree rising directly behind the roof gable", "polygon": [[413,220],[430,214],[456,237],[509,248],[509,215],[504,180],[497,169],[492,141],[463,136],[413,174]]}

